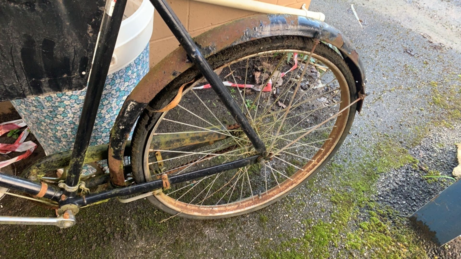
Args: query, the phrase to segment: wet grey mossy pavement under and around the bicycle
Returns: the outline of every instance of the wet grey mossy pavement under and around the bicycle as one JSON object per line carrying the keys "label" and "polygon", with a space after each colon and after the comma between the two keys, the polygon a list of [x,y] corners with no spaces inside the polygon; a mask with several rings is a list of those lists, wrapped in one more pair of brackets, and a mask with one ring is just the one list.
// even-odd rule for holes
{"label": "wet grey mossy pavement under and around the bicycle", "polygon": [[[420,166],[449,175],[456,165],[460,1],[313,0],[310,10],[324,12],[357,46],[371,95],[330,166],[306,186],[258,212],[222,220],[159,223],[169,215],[138,200],[82,209],[67,230],[1,226],[0,257],[461,258],[459,240],[438,248],[405,218],[449,184],[427,181]],[[382,172],[364,183],[354,166]],[[355,195],[356,183],[363,194]],[[3,215],[52,216],[16,198],[0,204]]]}

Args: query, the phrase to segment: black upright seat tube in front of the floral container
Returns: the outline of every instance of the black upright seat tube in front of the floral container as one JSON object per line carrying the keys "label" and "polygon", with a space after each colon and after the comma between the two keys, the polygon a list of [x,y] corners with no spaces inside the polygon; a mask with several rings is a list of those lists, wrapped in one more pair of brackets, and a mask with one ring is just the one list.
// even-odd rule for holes
{"label": "black upright seat tube in front of the floral container", "polygon": [[[69,171],[65,179],[65,184],[69,187],[74,187],[80,182],[80,173],[85,162],[85,155],[89,146],[91,132],[95,126],[102,90],[106,83],[107,72],[109,71],[112,53],[122,23],[126,1],[127,0],[118,0],[111,15],[108,14],[110,8],[108,8],[106,4],[101,21],[100,36],[96,42],[95,56],[91,65],[82,114],[80,115],[77,135],[75,136]],[[112,0],[107,1],[109,4],[111,2]],[[74,197],[77,191],[65,191],[65,194],[67,197]]]}

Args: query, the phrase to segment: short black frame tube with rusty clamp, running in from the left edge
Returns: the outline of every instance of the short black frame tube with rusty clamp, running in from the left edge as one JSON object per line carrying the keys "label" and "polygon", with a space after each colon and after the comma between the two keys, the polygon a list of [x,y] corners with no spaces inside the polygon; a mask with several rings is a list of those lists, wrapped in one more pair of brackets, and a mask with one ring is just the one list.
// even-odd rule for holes
{"label": "short black frame tube with rusty clamp, running in from the left edge", "polygon": [[[0,173],[0,186],[30,195],[39,194],[42,188],[41,183],[33,182],[17,176],[7,175],[4,173]],[[61,195],[61,190],[48,185],[47,191],[45,192],[43,198],[59,201]]]}

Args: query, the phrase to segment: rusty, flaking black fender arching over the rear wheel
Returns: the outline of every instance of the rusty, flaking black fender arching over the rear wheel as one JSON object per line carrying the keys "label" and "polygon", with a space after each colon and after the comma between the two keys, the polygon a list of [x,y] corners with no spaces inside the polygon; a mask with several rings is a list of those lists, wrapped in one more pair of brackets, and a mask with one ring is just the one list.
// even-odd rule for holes
{"label": "rusty, flaking black fender arching over the rear wheel", "polygon": [[[364,93],[365,75],[355,46],[334,27],[311,18],[286,15],[263,14],[233,21],[211,29],[194,38],[201,53],[209,57],[222,49],[246,41],[277,35],[297,35],[313,37],[321,33],[320,40],[338,48],[351,69],[358,92]],[[136,119],[141,115],[148,103],[154,99],[168,83],[193,63],[188,62],[182,47],[178,47],[142,78],[141,82],[126,98],[111,130],[109,143],[109,169],[114,184],[124,186],[123,154],[125,143]],[[360,112],[361,103],[358,105]]]}

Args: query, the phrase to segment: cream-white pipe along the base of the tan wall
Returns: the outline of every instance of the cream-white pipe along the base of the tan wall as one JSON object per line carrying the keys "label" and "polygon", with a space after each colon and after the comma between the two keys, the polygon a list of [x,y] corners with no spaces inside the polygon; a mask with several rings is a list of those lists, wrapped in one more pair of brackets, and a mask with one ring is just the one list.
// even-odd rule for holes
{"label": "cream-white pipe along the base of the tan wall", "polygon": [[208,3],[218,6],[227,6],[247,11],[261,12],[261,13],[283,13],[283,14],[293,14],[299,16],[305,16],[309,18],[314,18],[320,21],[325,20],[325,14],[321,12],[311,12],[304,9],[296,9],[286,6],[278,6],[269,3],[263,3],[255,0],[194,0],[202,3]]}

